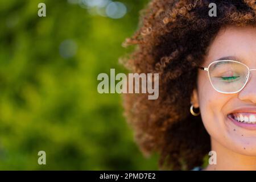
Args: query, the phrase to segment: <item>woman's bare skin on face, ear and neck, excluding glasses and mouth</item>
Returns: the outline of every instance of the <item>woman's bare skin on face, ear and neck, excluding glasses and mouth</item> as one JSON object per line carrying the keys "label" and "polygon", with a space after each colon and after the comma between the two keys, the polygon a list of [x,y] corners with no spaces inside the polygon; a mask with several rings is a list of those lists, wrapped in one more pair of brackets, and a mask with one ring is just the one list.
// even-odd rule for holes
{"label": "woman's bare skin on face, ear and neck, excluding glasses and mouth", "polygon": [[[226,56],[233,56],[250,69],[256,68],[256,28],[222,28],[210,44],[202,66],[208,67]],[[206,71],[199,70],[191,104],[200,107],[212,151],[217,154],[217,164],[209,164],[204,170],[256,170],[256,130],[234,125],[227,118],[238,107],[256,108],[256,71],[251,71],[249,82],[240,92],[224,94],[213,89]]]}

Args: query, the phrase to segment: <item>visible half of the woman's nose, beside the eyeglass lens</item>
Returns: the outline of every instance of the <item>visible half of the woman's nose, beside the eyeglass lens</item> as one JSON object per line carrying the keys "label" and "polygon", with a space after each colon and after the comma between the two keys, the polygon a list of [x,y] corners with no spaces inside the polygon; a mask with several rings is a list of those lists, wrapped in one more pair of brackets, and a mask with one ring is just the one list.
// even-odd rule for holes
{"label": "visible half of the woman's nose, beside the eyeglass lens", "polygon": [[238,93],[238,98],[256,104],[256,69],[251,69],[249,80],[245,88]]}

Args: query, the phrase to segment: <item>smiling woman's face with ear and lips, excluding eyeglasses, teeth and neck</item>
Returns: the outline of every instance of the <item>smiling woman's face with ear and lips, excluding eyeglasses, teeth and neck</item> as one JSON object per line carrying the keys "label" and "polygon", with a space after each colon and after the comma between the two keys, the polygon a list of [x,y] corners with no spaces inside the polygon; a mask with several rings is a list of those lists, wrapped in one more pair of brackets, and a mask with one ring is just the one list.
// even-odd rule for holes
{"label": "smiling woman's face with ear and lips, excluding eyeglasses, teeth and neck", "polygon": [[[209,46],[203,67],[222,57],[236,59],[256,68],[256,28],[229,26],[222,29]],[[226,58],[228,59],[228,58]],[[256,116],[256,71],[251,71],[245,88],[234,94],[219,93],[210,84],[208,73],[200,70],[192,103],[199,106],[212,143],[243,155],[256,156],[256,124],[237,125],[228,114]],[[235,111],[236,110],[236,111]]]}

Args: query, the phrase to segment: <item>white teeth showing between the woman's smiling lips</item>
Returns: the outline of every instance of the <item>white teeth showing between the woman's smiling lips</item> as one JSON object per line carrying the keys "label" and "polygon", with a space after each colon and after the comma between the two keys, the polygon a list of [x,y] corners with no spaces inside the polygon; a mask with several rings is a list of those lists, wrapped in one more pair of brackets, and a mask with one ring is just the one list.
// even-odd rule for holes
{"label": "white teeth showing between the woman's smiling lips", "polygon": [[231,113],[228,117],[240,123],[256,124],[256,113]]}

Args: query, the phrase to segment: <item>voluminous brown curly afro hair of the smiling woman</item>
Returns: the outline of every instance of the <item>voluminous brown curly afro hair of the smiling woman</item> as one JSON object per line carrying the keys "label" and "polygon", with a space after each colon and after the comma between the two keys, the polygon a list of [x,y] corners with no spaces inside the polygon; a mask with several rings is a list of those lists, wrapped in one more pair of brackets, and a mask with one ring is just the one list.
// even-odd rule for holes
{"label": "voluminous brown curly afro hair of the smiling woman", "polygon": [[[217,16],[209,16],[209,3]],[[189,113],[197,85],[197,65],[220,28],[255,26],[255,0],[153,0],[142,10],[138,31],[124,42],[136,45],[125,59],[134,73],[159,73],[159,98],[125,94],[124,106],[145,155],[159,152],[160,169],[192,169],[203,164],[210,137],[201,117]]]}

